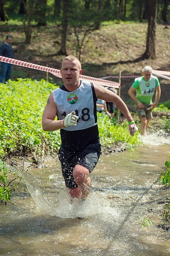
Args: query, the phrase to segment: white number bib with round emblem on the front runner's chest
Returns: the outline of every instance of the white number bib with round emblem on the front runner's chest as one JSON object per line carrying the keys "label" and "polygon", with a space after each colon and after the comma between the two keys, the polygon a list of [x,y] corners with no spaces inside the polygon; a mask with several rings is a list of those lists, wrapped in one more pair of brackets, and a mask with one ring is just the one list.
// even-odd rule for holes
{"label": "white number bib with round emblem on the front runner's chest", "polygon": [[81,81],[81,85],[75,91],[63,91],[57,88],[52,91],[57,107],[57,117],[62,120],[72,111],[79,117],[76,126],[62,128],[68,131],[81,130],[97,125],[94,114],[92,87],[89,81]]}

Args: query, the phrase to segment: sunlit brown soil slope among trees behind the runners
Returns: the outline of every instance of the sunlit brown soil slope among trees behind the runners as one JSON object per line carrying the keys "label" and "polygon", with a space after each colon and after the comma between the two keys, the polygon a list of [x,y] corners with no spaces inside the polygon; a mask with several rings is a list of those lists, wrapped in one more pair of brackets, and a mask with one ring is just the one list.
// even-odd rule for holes
{"label": "sunlit brown soil slope among trees behind the runners", "polygon": [[[7,25],[0,27],[1,38],[5,38]],[[61,49],[61,27],[33,27],[31,44],[25,44],[23,27],[15,28],[13,36],[15,58],[18,60],[48,65],[60,69],[63,55],[58,55]],[[76,55],[73,31],[68,30],[67,55]],[[109,75],[141,75],[145,65],[151,65],[154,70],[170,71],[170,26],[158,24],[156,27],[156,59],[142,59],[146,48],[147,24],[112,24],[103,25],[89,37],[84,54],[81,56],[83,74],[93,77]],[[2,40],[2,39],[1,39]],[[17,77],[46,79],[46,73],[30,68],[13,66],[12,80]],[[49,74],[49,82],[62,82],[60,78]],[[161,83],[161,102],[170,99],[170,80],[159,78]],[[118,82],[117,78],[113,81]],[[132,104],[127,91],[134,78],[121,79],[121,98]]]}

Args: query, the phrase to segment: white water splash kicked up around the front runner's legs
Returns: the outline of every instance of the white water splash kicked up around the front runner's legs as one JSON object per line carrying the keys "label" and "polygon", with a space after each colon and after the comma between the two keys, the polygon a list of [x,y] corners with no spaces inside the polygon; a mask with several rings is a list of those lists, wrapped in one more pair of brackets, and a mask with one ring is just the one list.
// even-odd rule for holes
{"label": "white water splash kicked up around the front runner's legs", "polygon": [[117,217],[118,213],[110,206],[106,194],[91,191],[85,201],[73,199],[71,202],[68,191],[61,189],[58,194],[56,193],[55,198],[55,200],[58,201],[58,205],[53,207],[53,202],[49,203],[45,198],[45,195],[37,183],[36,177],[26,172],[21,172],[21,175],[32,199],[42,213],[64,219],[88,218],[93,215],[111,215],[114,218]]}

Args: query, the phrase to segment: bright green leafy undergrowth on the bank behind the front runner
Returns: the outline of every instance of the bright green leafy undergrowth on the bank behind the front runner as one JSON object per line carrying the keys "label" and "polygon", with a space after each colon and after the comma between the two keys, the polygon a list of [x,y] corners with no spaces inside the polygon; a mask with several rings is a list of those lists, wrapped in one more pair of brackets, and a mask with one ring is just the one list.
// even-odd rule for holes
{"label": "bright green leafy undergrowth on the bank behind the front runner", "polygon": [[[56,154],[61,144],[60,131],[44,132],[41,127],[42,114],[47,98],[56,86],[52,83],[18,79],[0,83],[0,151],[9,155]],[[110,122],[107,115],[98,116],[99,132],[103,145],[117,141],[135,146],[137,135],[131,137],[127,122],[120,126]],[[114,134],[114,136],[113,136]],[[133,147],[132,146],[132,147]]]}

